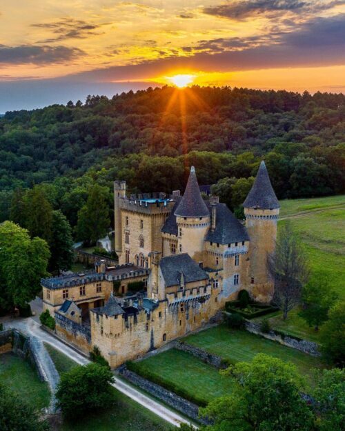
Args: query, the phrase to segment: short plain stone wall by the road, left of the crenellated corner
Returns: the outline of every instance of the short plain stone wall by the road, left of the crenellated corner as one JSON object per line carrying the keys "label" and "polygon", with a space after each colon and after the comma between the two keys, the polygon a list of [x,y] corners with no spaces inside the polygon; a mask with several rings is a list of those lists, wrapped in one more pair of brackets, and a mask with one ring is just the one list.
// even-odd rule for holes
{"label": "short plain stone wall by the road, left of the crenellated corner", "polygon": [[91,330],[86,325],[79,325],[59,312],[55,313],[55,333],[78,350],[88,354],[91,349]]}

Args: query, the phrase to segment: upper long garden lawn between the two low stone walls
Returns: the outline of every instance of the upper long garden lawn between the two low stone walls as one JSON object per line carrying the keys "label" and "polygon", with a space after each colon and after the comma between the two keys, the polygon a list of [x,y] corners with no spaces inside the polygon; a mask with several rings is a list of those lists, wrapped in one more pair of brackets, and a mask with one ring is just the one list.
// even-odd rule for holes
{"label": "upper long garden lawn between the two low stone walls", "polygon": [[214,353],[232,362],[250,361],[258,353],[266,353],[283,361],[294,363],[302,375],[313,376],[313,368],[322,368],[324,364],[318,358],[285,347],[245,330],[233,330],[226,325],[219,325],[186,337],[184,341],[206,352]]}

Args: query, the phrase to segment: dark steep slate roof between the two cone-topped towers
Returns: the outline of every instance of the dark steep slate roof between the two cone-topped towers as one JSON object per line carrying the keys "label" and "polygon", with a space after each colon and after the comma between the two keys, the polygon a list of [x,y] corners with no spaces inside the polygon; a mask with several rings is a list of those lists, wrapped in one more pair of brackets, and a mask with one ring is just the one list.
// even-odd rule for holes
{"label": "dark steep slate roof between the two cone-topped towers", "polygon": [[[210,203],[208,203],[210,208]],[[225,203],[217,203],[216,228],[208,230],[205,241],[219,244],[230,244],[240,241],[249,241],[244,225],[236,219]]]}

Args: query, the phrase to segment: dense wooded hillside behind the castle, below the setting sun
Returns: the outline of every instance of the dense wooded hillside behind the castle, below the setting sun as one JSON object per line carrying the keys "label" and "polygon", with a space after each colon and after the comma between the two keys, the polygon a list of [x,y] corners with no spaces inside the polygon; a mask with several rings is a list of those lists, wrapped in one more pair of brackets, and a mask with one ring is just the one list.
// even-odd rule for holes
{"label": "dense wooded hillside behind the castle, below the setting sun", "polygon": [[261,159],[279,199],[344,192],[345,95],[164,87],[6,112],[0,222],[14,190],[39,185],[75,228],[96,183],[111,215],[115,179],[131,192],[183,190],[191,165],[200,184],[221,180],[236,209]]}

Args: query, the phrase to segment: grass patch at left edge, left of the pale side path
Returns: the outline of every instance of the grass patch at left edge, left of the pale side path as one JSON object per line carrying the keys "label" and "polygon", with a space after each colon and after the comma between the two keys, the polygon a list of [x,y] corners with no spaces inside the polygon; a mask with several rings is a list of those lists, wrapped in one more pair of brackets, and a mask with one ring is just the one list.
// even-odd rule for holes
{"label": "grass patch at left edge, left of the pale side path", "polygon": [[12,353],[0,354],[0,382],[37,410],[50,403],[48,384],[39,380],[30,363]]}

